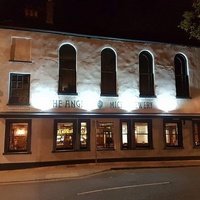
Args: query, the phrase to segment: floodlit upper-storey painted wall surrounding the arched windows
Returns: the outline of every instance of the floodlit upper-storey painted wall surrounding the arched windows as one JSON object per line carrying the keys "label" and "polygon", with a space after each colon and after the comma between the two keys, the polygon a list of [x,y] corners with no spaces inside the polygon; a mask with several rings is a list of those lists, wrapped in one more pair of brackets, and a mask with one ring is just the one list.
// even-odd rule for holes
{"label": "floodlit upper-storey painted wall surrounding the arched windows", "polygon": [[[12,37],[31,39],[32,62],[10,61]],[[72,44],[77,51],[77,96],[57,94],[58,51],[65,43]],[[112,48],[117,55],[118,97],[100,96],[100,55],[105,47]],[[136,113],[163,113],[167,110],[172,113],[191,113],[200,111],[194,109],[193,104],[190,106],[193,101],[199,101],[200,48],[0,29],[0,49],[0,112],[85,112],[90,110],[102,113],[128,110]],[[156,98],[139,98],[138,56],[142,50],[147,50],[153,55]],[[188,60],[192,99],[184,100],[175,97],[173,62],[177,53],[184,54]],[[31,74],[30,106],[7,105],[9,85],[5,83],[9,83],[10,72]],[[88,102],[88,99],[93,102]],[[101,109],[97,107],[99,100],[104,103]],[[75,108],[71,108],[71,101],[76,102]],[[145,103],[150,103],[151,106]],[[95,106],[88,108],[88,104]],[[198,105],[195,104],[195,106],[199,109]]]}

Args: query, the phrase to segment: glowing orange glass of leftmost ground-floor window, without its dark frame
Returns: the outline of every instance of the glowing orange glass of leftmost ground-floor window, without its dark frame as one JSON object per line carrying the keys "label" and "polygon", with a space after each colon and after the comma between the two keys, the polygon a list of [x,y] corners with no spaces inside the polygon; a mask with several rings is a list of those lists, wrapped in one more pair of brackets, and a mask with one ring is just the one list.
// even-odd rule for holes
{"label": "glowing orange glass of leftmost ground-floor window, without its dark frame", "polygon": [[26,151],[27,136],[28,123],[11,123],[9,151]]}

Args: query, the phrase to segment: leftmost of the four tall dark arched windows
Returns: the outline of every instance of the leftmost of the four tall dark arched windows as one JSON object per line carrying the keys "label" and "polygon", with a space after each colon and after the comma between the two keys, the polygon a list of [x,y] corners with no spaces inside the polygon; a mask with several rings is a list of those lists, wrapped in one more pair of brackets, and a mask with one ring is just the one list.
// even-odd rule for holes
{"label": "leftmost of the four tall dark arched windows", "polygon": [[59,50],[59,86],[60,94],[76,93],[76,50],[65,44]]}

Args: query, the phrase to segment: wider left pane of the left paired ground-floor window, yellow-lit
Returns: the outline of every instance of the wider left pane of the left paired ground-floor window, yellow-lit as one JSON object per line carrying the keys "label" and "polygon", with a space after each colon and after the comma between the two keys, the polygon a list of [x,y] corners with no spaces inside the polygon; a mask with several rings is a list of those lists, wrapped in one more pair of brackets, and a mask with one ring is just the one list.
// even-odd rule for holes
{"label": "wider left pane of the left paired ground-floor window, yellow-lit", "polygon": [[56,149],[73,149],[73,123],[57,123]]}

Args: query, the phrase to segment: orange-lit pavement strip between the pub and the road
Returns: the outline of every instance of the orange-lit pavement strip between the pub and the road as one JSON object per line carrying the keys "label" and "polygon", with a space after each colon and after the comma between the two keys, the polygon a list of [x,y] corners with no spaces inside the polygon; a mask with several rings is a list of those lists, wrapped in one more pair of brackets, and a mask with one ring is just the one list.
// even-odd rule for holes
{"label": "orange-lit pavement strip between the pub and the road", "polygon": [[200,160],[107,162],[2,170],[0,185],[84,178],[108,170],[193,166],[200,166]]}

